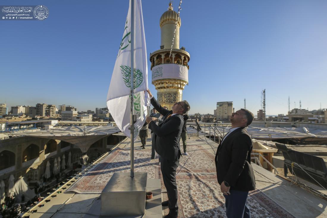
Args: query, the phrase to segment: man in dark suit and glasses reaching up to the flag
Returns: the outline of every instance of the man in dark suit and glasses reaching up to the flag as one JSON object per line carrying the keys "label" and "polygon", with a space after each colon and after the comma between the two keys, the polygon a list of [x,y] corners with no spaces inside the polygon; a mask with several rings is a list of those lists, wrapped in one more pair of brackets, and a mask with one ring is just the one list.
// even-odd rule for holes
{"label": "man in dark suit and glasses reaching up to the flag", "polygon": [[155,140],[155,150],[161,156],[160,168],[168,195],[168,201],[162,202],[162,205],[169,208],[169,213],[165,217],[175,218],[178,217],[176,169],[181,157],[180,139],[184,125],[183,115],[190,110],[190,105],[184,100],[176,102],[172,110],[167,110],[157,102],[149,90],[147,92],[153,107],[164,116],[163,122],[158,125],[153,121],[156,118],[147,117],[146,122],[154,133],[152,140]]}

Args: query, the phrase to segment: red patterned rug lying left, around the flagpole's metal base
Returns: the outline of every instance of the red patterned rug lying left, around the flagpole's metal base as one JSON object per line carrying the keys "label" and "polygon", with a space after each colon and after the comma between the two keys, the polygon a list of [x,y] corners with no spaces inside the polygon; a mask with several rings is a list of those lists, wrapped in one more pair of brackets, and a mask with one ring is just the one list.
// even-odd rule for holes
{"label": "red patterned rug lying left, around the flagpole's metal base", "polygon": [[[158,175],[158,168],[155,167],[157,163],[158,158],[151,161],[151,149],[134,149],[134,172],[147,172],[147,178],[154,179]],[[115,172],[130,172],[129,150],[116,149],[67,191],[101,193]]]}

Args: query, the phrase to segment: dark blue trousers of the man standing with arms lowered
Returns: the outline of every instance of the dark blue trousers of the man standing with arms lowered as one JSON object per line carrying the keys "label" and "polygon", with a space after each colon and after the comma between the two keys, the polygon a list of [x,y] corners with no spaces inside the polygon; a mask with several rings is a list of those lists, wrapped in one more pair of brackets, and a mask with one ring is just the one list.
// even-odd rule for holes
{"label": "dark blue trousers of the man standing with arms lowered", "polygon": [[226,215],[228,218],[251,218],[247,199],[249,191],[230,190],[230,195],[224,195]]}

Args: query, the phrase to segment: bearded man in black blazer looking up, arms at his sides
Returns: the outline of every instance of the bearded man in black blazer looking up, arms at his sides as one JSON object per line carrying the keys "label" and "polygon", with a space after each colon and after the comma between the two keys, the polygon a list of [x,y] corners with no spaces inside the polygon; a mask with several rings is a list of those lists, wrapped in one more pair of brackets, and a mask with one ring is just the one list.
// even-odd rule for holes
{"label": "bearded man in black blazer looking up, arms at his sides", "polygon": [[246,109],[232,113],[232,128],[215,155],[217,180],[226,200],[228,218],[251,217],[247,198],[249,191],[255,190],[255,179],[251,166],[252,140],[245,127],[253,118]]}

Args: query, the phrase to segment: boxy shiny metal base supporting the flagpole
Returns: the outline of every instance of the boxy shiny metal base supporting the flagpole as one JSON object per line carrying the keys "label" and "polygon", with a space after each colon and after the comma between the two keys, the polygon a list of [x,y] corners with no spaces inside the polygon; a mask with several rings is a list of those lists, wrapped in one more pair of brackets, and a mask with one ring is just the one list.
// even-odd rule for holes
{"label": "boxy shiny metal base supporting the flagpole", "polygon": [[101,193],[101,216],[145,214],[147,173],[114,173]]}

